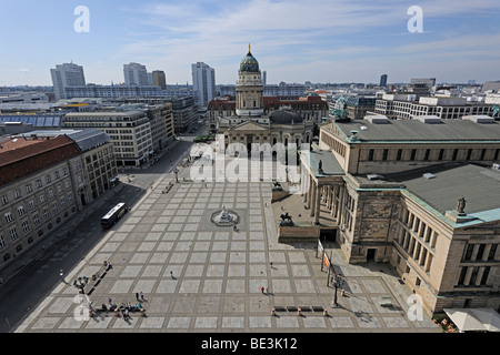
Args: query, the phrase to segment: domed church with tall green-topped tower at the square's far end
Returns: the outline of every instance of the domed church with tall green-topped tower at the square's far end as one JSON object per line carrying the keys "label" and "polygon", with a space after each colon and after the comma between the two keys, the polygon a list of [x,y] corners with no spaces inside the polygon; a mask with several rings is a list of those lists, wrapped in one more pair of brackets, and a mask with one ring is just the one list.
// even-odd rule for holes
{"label": "domed church with tall green-topped tower at the square's far end", "polygon": [[[209,126],[223,134],[227,153],[267,152],[277,143],[288,148],[290,143],[300,146],[312,141],[313,121],[291,110],[293,102],[287,102],[287,108],[281,109],[278,100],[269,100],[268,108],[272,111],[269,113],[264,99],[259,62],[249,49],[240,62],[236,100],[212,101],[208,110]],[[308,103],[320,102],[321,99]]]}

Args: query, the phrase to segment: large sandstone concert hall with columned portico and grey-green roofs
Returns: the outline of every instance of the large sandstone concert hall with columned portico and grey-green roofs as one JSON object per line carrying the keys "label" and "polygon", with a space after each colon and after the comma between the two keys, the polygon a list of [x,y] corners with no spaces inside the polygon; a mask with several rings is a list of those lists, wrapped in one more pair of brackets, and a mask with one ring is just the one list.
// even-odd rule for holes
{"label": "large sandstone concert hall with columned portico and grey-green roofs", "polygon": [[329,122],[309,155],[304,203],[350,263],[390,263],[428,313],[499,310],[498,122]]}

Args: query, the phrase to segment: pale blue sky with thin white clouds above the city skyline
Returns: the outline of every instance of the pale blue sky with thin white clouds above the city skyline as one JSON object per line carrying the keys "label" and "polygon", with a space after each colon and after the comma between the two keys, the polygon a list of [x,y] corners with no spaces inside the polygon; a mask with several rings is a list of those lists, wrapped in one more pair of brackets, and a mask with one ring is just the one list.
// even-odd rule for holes
{"label": "pale blue sky with thin white clouds above the city skyline", "polygon": [[499,23],[498,0],[2,0],[0,87],[51,85],[71,61],[87,83],[123,82],[139,62],[191,84],[204,62],[233,84],[249,43],[268,83],[481,83],[500,80]]}

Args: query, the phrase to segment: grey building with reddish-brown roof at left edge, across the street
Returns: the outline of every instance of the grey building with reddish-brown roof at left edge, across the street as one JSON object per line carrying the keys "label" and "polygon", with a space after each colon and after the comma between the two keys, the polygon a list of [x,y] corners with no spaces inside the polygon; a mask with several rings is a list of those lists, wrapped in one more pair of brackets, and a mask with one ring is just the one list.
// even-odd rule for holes
{"label": "grey building with reddish-brown roof at left edge, across the street", "polygon": [[71,165],[78,144],[66,135],[17,138],[0,149],[0,267],[46,239],[78,211]]}

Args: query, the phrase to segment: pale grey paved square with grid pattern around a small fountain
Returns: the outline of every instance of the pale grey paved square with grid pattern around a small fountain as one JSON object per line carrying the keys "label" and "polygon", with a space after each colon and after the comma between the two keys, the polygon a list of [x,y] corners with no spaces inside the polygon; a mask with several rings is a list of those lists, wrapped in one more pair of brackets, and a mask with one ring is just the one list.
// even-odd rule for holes
{"label": "pale grey paved square with grid pattern around a small fountain", "polygon": [[[161,193],[174,182],[172,174],[163,175],[68,275],[90,276],[86,273],[110,262],[89,296],[93,307],[110,297],[118,305],[136,304],[136,292],[143,292],[147,316],[133,312],[124,321],[99,312],[78,321],[77,290],[60,284],[18,332],[439,332],[429,318],[408,320],[410,292],[390,265],[346,264],[336,244],[328,253],[346,278],[346,296],[332,308],[334,288],[327,285],[316,245],[277,242],[272,182],[196,183],[189,169],[179,176],[187,181]],[[210,222],[222,204],[240,215],[238,231]],[[391,294],[397,306],[380,306],[380,294]]]}

